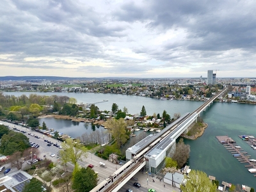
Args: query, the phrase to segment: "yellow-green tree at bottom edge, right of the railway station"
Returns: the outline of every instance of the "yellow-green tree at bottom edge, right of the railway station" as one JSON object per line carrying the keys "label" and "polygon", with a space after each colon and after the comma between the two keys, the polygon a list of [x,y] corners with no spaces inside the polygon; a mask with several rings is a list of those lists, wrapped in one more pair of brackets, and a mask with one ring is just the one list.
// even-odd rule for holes
{"label": "yellow-green tree at bottom edge, right of the railway station", "polygon": [[191,170],[186,180],[186,186],[180,185],[184,192],[216,192],[217,186],[212,184],[204,172]]}

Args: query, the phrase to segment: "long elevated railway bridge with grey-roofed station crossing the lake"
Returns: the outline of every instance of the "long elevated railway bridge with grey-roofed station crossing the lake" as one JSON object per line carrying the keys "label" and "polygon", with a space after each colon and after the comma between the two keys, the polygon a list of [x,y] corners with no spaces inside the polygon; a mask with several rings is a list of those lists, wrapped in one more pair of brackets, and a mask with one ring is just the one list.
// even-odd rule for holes
{"label": "long elevated railway bridge with grey-roofed station crossing the lake", "polygon": [[100,182],[91,192],[118,191],[130,180],[141,168],[147,168],[148,172],[157,173],[161,170],[164,158],[172,150],[175,150],[176,139],[180,134],[188,131],[189,125],[197,121],[202,111],[211,105],[214,99],[219,97],[227,88],[218,92],[211,99],[204,102],[193,113],[186,113],[172,124],[165,127],[157,134],[150,134],[126,150],[127,163],[121,166],[108,178]]}

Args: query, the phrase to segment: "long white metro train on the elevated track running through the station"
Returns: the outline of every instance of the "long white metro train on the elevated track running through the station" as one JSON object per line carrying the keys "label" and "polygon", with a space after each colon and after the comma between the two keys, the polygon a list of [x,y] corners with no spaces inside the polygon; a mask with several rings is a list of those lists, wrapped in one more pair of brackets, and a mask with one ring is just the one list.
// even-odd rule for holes
{"label": "long white metro train on the elevated track running through the station", "polygon": [[[136,164],[140,159],[144,157],[144,155],[157,143],[159,143],[161,140],[163,140],[166,136],[168,136],[179,124],[189,116],[190,113],[186,113],[185,115],[181,116],[176,124],[173,125],[172,129],[169,129],[168,131],[163,132],[162,134],[159,134],[159,138],[157,138],[155,141],[150,143],[147,147],[143,148],[138,154],[136,154],[130,161],[125,163],[123,166],[121,166],[118,170],[116,170],[113,174],[111,174],[108,178],[100,182],[95,188],[93,188],[90,192],[100,192],[104,191],[104,189],[108,188],[113,182],[115,182],[122,173],[126,172],[131,168],[134,164]],[[159,132],[161,133],[161,132]]]}

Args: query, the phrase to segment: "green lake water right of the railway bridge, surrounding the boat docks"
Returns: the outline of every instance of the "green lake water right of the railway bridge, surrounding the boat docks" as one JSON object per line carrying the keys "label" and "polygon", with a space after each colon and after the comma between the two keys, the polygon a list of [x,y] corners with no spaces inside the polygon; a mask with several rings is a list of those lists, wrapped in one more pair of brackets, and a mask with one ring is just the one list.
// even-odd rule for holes
{"label": "green lake water right of the railway bridge, surrounding the boat docks", "polygon": [[256,159],[256,150],[238,137],[256,137],[256,106],[216,102],[201,116],[208,124],[203,136],[195,141],[185,140],[191,146],[189,166],[216,177],[220,184],[224,180],[256,189],[256,177],[253,177],[253,173],[248,172],[245,164],[239,163],[216,139],[216,136],[228,135],[251,155],[250,159]]}

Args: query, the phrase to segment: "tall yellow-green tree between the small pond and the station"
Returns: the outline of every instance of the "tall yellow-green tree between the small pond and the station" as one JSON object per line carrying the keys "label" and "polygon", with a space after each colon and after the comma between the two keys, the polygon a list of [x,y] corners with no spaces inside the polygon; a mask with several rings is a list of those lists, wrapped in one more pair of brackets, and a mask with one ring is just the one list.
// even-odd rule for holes
{"label": "tall yellow-green tree between the small pond and the station", "polygon": [[116,140],[116,144],[118,147],[124,144],[129,138],[126,132],[127,124],[124,118],[120,118],[118,120],[116,120],[115,118],[108,119],[104,125],[109,128],[108,130],[113,138]]}

